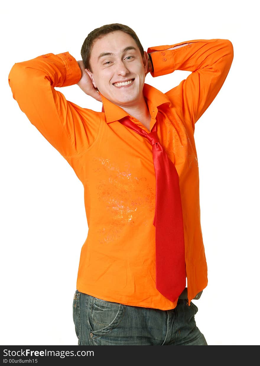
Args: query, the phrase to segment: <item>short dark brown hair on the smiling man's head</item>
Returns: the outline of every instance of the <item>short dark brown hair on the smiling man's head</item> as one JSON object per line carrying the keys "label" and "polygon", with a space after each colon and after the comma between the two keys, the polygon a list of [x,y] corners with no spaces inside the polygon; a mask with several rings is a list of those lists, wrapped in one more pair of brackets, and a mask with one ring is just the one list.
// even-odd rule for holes
{"label": "short dark brown hair on the smiling man's head", "polygon": [[87,38],[83,42],[80,54],[81,54],[85,68],[87,68],[88,70],[90,70],[92,72],[89,60],[90,60],[90,53],[91,53],[94,41],[97,38],[102,38],[106,34],[116,31],[116,30],[121,30],[121,31],[129,34],[129,36],[131,36],[133,38],[133,40],[135,41],[135,43],[136,43],[137,47],[139,48],[141,55],[143,57],[143,55],[144,55],[143,46],[141,45],[139,38],[136,36],[136,33],[130,27],[128,27],[127,25],[124,25],[124,24],[120,24],[120,23],[106,24],[106,25],[96,28],[92,32],[90,32],[88,34]]}

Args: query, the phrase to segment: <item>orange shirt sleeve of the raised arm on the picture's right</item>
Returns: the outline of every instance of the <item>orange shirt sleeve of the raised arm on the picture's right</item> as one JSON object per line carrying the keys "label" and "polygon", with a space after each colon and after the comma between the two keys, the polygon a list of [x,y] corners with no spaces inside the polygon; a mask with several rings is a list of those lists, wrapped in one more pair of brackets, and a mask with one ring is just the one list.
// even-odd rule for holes
{"label": "orange shirt sleeve of the raised arm on the picture's right", "polygon": [[229,40],[192,40],[175,45],[151,47],[153,77],[175,70],[192,73],[165,93],[184,120],[195,123],[203,115],[221,89],[233,61],[233,45]]}

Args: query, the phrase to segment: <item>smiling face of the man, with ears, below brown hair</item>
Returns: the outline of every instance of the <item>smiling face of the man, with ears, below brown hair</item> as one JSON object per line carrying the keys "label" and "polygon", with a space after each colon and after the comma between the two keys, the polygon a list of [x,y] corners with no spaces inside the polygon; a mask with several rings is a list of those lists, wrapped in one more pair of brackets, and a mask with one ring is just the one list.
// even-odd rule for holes
{"label": "smiling face of the man, with ears, below brown hair", "polygon": [[[132,107],[143,97],[147,53],[142,58],[129,34],[117,30],[94,41],[90,55],[94,87],[120,107]],[[124,83],[123,85],[120,83]]]}

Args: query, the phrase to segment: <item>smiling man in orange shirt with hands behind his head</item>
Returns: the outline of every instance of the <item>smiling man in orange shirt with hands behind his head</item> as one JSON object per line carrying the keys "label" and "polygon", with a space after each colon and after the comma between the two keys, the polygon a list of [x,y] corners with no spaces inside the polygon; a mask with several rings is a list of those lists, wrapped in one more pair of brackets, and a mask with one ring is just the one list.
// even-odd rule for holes
{"label": "smiling man in orange shirt with hands behind his head", "polygon": [[[84,185],[88,235],[73,300],[79,345],[207,345],[196,327],[207,286],[195,123],[229,72],[229,40],[148,48],[121,24],[69,52],[16,63],[13,97]],[[192,71],[163,94],[145,76]],[[78,84],[102,112],[54,87]],[[187,289],[185,283],[187,280]]]}

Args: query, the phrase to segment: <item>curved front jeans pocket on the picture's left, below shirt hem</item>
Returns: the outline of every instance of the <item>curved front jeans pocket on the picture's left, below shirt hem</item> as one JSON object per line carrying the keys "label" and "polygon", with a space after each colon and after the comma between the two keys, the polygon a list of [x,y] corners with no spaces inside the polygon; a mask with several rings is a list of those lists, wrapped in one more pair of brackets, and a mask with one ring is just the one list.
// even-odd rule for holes
{"label": "curved front jeans pocket on the picture's left, below shirt hem", "polygon": [[121,322],[125,306],[92,297],[89,323],[94,336],[107,333]]}

